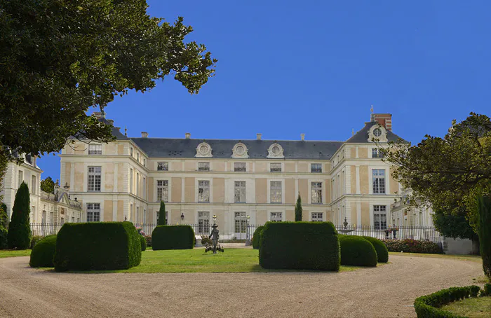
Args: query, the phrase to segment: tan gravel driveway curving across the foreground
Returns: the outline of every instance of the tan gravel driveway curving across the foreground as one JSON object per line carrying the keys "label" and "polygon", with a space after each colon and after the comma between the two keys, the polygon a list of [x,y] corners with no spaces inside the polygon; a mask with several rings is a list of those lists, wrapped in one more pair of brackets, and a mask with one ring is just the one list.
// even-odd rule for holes
{"label": "tan gravel driveway curving across the foreground", "polygon": [[70,274],[28,261],[0,258],[0,317],[415,317],[417,296],[482,275],[472,261],[410,256],[340,273]]}

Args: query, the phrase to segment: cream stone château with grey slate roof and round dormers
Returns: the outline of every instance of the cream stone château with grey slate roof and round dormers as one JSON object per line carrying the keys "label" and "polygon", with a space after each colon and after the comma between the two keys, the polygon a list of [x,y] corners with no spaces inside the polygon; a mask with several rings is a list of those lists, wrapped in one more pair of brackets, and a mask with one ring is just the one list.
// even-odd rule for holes
{"label": "cream stone ch\u00e2teau with grey slate roof and round dormers", "polygon": [[[112,123],[104,113],[99,120]],[[372,113],[346,141],[128,137],[74,140],[61,157],[61,186],[83,209],[82,221],[156,223],[160,201],[169,223],[198,224],[213,215],[220,233],[241,237],[250,223],[294,221],[297,195],[304,221],[385,228],[401,186],[382,161],[382,146],[399,137],[391,114]]]}

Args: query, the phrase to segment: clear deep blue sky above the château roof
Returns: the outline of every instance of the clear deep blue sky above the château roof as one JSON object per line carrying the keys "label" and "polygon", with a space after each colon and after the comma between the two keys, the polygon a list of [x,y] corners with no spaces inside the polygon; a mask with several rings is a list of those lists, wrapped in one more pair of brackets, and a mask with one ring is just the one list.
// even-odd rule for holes
{"label": "clear deep blue sky above the ch\u00e2teau roof", "polygon": [[[375,112],[414,142],[491,115],[490,1],[163,1],[219,60],[199,95],[166,78],[106,108],[130,137],[346,140]],[[42,178],[60,158],[39,160]]]}

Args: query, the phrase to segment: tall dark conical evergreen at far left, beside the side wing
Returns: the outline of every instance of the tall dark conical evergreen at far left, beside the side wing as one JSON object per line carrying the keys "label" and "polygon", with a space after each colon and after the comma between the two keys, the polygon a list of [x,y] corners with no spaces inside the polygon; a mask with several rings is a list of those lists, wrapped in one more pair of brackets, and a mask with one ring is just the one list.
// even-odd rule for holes
{"label": "tall dark conical evergreen at far left, beside the side wing", "polygon": [[8,224],[9,249],[28,249],[31,244],[30,202],[29,188],[25,182],[22,182],[15,194],[11,223]]}

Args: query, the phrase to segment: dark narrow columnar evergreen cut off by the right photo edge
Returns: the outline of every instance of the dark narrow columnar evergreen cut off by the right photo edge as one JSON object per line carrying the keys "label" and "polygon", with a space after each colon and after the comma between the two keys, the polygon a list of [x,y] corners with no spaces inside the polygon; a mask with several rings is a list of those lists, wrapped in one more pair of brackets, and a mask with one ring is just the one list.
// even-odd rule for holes
{"label": "dark narrow columnar evergreen cut off by the right photo edge", "polygon": [[491,279],[491,195],[478,197],[479,248],[484,274]]}

